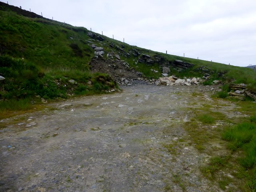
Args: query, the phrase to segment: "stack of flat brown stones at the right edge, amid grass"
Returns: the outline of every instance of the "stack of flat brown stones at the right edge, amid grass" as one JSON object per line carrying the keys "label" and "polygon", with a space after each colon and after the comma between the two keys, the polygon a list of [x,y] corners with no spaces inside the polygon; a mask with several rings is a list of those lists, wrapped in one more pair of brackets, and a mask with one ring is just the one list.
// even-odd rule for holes
{"label": "stack of flat brown stones at the right edge, amid grass", "polygon": [[252,92],[250,90],[247,89],[247,85],[246,84],[231,84],[230,85],[230,89],[231,92],[229,92],[228,94],[230,96],[249,96],[250,98],[256,100],[256,93]]}

